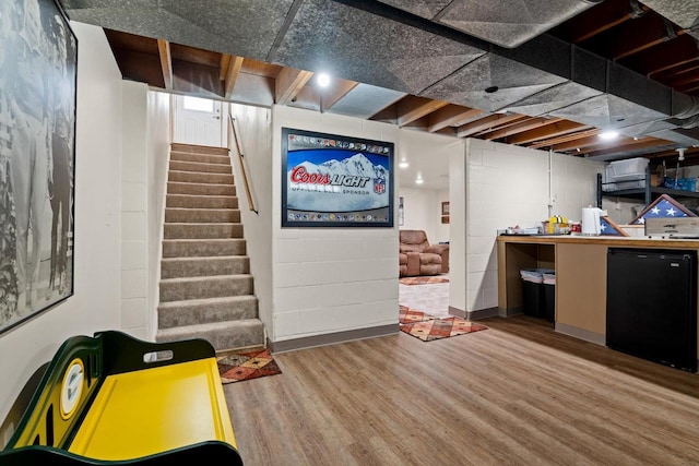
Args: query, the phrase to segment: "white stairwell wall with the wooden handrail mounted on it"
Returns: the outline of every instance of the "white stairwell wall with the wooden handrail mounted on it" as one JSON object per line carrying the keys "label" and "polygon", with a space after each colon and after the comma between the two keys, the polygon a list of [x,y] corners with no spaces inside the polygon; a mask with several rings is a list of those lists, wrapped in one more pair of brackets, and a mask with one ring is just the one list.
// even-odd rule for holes
{"label": "white stairwell wall with the wooden handrail mounted on it", "polygon": [[[242,235],[246,239],[248,255],[250,256],[250,273],[254,277],[254,295],[258,297],[258,311],[268,331],[273,328],[273,286],[272,286],[272,232],[273,222],[279,218],[272,215],[271,180],[279,171],[272,158],[272,116],[268,108],[244,105],[230,105],[230,113],[236,119],[239,131],[239,144],[247,167],[248,179],[252,194],[252,205],[257,211],[250,211],[240,159],[236,150],[235,139],[228,129],[230,157],[236,180],[238,206],[242,219]],[[277,207],[279,210],[279,207]]]}

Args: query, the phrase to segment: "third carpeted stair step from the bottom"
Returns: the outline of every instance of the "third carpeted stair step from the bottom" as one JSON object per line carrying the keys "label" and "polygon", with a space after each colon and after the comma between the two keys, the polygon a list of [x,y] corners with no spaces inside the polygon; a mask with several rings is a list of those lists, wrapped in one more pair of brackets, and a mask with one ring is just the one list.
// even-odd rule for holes
{"label": "third carpeted stair step from the bottom", "polygon": [[217,275],[161,279],[161,302],[252,295],[252,276]]}

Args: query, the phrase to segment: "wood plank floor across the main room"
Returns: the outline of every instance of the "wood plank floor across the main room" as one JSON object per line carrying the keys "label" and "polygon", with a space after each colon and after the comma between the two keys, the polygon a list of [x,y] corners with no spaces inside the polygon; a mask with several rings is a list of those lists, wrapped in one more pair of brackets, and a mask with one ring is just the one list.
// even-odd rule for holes
{"label": "wood plank floor across the main room", "polygon": [[246,466],[695,465],[699,378],[528,316],[274,355],[224,385]]}

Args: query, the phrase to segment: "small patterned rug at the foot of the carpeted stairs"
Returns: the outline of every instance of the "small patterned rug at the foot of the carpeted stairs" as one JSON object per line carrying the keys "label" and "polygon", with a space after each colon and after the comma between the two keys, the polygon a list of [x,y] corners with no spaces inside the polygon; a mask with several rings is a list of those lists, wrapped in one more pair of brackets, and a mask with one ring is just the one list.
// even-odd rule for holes
{"label": "small patterned rug at the foot of the carpeted stairs", "polygon": [[223,384],[259,379],[282,373],[272,354],[265,349],[236,353],[230,351],[216,356],[218,374]]}

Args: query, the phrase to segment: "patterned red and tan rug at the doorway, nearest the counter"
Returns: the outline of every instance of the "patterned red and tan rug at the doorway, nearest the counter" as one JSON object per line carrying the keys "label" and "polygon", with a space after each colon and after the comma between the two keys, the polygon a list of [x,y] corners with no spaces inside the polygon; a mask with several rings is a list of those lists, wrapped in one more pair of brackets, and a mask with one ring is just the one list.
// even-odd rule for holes
{"label": "patterned red and tan rug at the doorway, nearest the counter", "polygon": [[401,332],[423,342],[449,338],[488,328],[485,325],[459,318],[436,318],[407,306],[400,307],[399,322]]}

